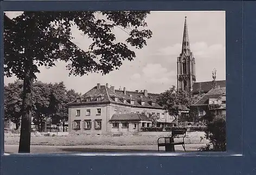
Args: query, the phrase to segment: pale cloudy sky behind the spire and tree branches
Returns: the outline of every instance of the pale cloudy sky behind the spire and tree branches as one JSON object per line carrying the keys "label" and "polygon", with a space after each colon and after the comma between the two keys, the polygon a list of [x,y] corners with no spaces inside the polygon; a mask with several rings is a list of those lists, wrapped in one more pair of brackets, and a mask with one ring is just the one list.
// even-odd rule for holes
{"label": "pale cloudy sky behind the spire and tree branches", "polygon": [[[7,12],[10,18],[21,12]],[[50,69],[40,67],[37,79],[45,83],[63,81],[67,89],[86,93],[97,83],[115,86],[115,89],[148,90],[161,93],[172,85],[177,86],[177,57],[181,53],[184,17],[187,16],[190,50],[196,63],[196,82],[212,80],[215,68],[216,79],[226,79],[226,19],[225,11],[151,11],[146,18],[152,38],[141,50],[134,49],[136,58],[123,62],[119,70],[102,76],[91,73],[88,76],[68,76],[66,63],[57,62]],[[118,41],[125,42],[128,37],[123,30],[115,29]],[[73,42],[87,49],[90,40],[73,28]],[[4,84],[14,82],[16,77],[4,77]]]}

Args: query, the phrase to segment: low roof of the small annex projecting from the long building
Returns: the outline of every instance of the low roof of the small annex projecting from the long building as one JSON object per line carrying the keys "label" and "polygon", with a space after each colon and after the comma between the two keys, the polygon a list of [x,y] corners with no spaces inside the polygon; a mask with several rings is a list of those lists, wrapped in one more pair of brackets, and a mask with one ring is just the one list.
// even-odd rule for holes
{"label": "low roof of the small annex projecting from the long building", "polygon": [[116,121],[152,121],[150,120],[146,115],[140,114],[140,113],[128,113],[128,114],[114,114],[110,122],[116,122]]}

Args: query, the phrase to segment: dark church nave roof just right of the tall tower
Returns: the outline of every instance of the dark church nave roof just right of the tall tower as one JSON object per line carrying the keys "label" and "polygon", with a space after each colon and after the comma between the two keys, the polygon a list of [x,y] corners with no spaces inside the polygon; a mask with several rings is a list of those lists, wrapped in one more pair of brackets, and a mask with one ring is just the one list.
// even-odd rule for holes
{"label": "dark church nave roof just right of the tall tower", "polygon": [[[212,89],[212,82],[195,82],[193,84],[193,93],[198,93],[200,90],[201,84],[201,91],[208,92]],[[226,80],[217,80],[216,85],[220,87],[226,87]]]}

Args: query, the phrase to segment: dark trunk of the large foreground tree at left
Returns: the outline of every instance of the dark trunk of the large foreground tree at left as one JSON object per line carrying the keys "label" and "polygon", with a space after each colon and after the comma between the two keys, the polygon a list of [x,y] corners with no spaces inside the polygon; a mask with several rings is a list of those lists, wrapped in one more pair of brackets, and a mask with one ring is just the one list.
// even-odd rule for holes
{"label": "dark trunk of the large foreground tree at left", "polygon": [[21,136],[19,153],[30,152],[30,136],[31,136],[31,115],[32,115],[32,90],[33,77],[30,70],[25,70],[23,81],[23,101],[22,101],[22,118],[21,118]]}

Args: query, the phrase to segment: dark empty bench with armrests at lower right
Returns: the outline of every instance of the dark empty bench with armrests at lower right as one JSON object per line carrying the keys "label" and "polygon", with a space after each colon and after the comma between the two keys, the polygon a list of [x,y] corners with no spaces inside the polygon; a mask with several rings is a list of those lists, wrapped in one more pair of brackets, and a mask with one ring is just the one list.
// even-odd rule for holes
{"label": "dark empty bench with armrests at lower right", "polygon": [[[159,151],[159,147],[164,146],[165,147],[165,151],[168,152],[174,152],[175,145],[182,145],[184,151],[185,151],[185,143],[184,143],[184,138],[186,136],[186,131],[171,131],[171,136],[170,137],[160,137],[157,139],[157,146],[158,146],[158,151]],[[183,138],[183,142],[174,142],[174,138]],[[164,139],[164,143],[159,143],[160,139]]]}

